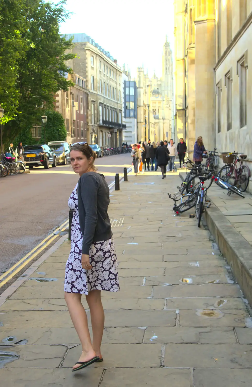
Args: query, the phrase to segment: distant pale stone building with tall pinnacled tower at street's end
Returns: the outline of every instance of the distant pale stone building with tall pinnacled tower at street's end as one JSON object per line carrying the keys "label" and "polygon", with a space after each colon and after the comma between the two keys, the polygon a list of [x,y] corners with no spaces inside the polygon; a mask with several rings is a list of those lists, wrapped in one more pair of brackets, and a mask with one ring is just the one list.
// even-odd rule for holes
{"label": "distant pale stone building with tall pinnacled tower at street's end", "polygon": [[174,135],[173,62],[170,44],[165,41],[162,77],[152,78],[143,67],[137,68],[137,138],[145,141],[170,139]]}

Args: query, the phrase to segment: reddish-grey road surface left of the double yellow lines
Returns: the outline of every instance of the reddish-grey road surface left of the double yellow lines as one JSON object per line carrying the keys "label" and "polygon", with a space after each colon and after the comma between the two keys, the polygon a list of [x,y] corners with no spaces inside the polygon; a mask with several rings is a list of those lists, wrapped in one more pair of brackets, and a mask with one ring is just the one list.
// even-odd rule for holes
{"label": "reddish-grey road surface left of the double yellow lines", "polygon": [[[131,165],[131,157],[103,157],[95,165],[110,184],[115,173],[122,176],[123,168]],[[58,165],[0,179],[0,276],[66,220],[68,198],[78,178],[71,166]]]}

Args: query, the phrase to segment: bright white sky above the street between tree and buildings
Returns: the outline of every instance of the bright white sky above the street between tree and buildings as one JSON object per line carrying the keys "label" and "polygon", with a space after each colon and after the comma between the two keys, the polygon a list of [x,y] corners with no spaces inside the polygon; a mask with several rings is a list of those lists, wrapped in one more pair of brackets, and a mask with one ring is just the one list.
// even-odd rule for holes
{"label": "bright white sky above the street between tree and buildings", "polygon": [[66,8],[73,14],[61,25],[61,33],[91,36],[119,66],[129,66],[132,77],[142,64],[149,76],[154,70],[162,75],[166,35],[174,47],[173,0],[67,0]]}

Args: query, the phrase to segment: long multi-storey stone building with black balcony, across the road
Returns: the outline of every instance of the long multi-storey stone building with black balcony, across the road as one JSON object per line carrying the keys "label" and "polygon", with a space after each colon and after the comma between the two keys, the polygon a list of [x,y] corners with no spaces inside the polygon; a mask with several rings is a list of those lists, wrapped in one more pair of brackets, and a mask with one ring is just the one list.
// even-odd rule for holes
{"label": "long multi-storey stone building with black balcony, across the road", "polygon": [[[70,38],[70,35],[67,36]],[[74,34],[70,67],[85,79],[87,101],[87,141],[99,146],[122,145],[122,70],[117,60],[86,34]]]}

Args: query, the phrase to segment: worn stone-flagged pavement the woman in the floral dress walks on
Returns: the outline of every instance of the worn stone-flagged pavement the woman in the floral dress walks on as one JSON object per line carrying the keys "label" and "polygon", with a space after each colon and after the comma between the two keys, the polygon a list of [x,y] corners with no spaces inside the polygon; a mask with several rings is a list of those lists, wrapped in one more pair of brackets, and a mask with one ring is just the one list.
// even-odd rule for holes
{"label": "worn stone-flagged pavement the woman in the floral dress walks on", "polygon": [[81,347],[63,298],[63,236],[0,296],[4,386],[251,387],[250,306],[208,229],[174,216],[179,174],[160,175],[129,175],[111,194],[121,290],[102,292],[104,362],[71,372]]}

